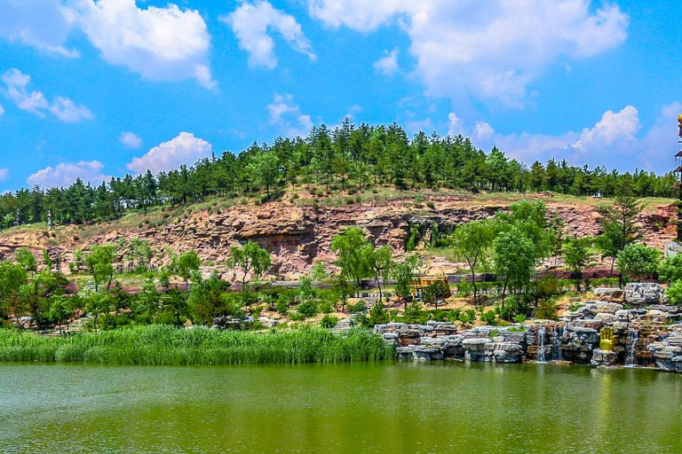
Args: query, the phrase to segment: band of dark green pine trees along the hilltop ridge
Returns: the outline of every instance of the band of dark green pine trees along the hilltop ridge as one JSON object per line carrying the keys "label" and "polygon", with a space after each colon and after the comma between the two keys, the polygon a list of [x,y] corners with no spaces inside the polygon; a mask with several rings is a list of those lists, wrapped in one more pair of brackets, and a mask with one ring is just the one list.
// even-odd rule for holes
{"label": "band of dark green pine trees along the hilltop ridge", "polygon": [[156,176],[147,171],[139,176],[115,177],[99,186],[78,179],[67,188],[8,192],[0,198],[0,221],[3,227],[12,225],[19,211],[20,223],[40,222],[51,211],[58,223],[83,223],[114,219],[129,209],[147,210],[210,195],[261,193],[270,199],[296,184],[328,190],[393,184],[400,189],[440,187],[604,196],[627,192],[639,197],[672,197],[673,183],[672,174],[580,168],[569,166],[565,160],[535,161],[528,166],[508,159],[496,148],[485,153],[462,136],[420,132],[410,139],[395,123],[354,126],[346,120],[333,130],[325,125],[313,127],[308,137],[280,137],[272,145],[254,143],[242,153],[226,152]]}

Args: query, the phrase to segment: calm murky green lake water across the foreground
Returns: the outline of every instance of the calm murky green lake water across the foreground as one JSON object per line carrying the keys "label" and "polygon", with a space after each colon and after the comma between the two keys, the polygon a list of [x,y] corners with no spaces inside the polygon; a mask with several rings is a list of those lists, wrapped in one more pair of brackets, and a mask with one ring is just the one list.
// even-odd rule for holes
{"label": "calm murky green lake water across the foreground", "polygon": [[0,452],[681,453],[682,375],[0,364]]}

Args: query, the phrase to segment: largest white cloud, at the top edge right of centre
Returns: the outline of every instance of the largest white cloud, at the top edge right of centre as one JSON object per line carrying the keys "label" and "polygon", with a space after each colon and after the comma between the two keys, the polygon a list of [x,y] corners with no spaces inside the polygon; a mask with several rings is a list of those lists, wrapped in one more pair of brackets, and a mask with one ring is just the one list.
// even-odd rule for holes
{"label": "largest white cloud, at the top edge right of centre", "polygon": [[427,94],[474,95],[523,106],[527,85],[561,58],[614,49],[628,17],[616,4],[591,0],[308,0],[311,15],[331,27],[367,32],[400,18],[416,75]]}

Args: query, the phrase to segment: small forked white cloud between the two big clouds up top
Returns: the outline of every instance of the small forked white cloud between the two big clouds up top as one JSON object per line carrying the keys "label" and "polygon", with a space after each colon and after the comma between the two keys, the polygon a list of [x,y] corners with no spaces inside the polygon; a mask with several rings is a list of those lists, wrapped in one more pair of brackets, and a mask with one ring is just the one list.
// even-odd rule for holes
{"label": "small forked white cloud between the two big clouds up top", "polygon": [[239,40],[239,47],[249,53],[249,64],[253,67],[277,66],[274,41],[268,35],[271,29],[279,32],[295,51],[307,55],[309,59],[317,59],[313,46],[303,34],[296,19],[275,9],[268,2],[243,3],[234,12],[221,16],[220,20],[232,27],[234,35]]}

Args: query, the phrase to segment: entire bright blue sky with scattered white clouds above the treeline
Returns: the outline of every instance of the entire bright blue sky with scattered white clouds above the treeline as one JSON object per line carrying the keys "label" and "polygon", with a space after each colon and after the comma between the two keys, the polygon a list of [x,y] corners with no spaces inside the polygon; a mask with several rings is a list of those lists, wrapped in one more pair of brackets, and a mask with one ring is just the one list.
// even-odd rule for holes
{"label": "entire bright blue sky with scattered white clouds above the treeline", "polygon": [[346,115],[662,172],[682,4],[0,0],[0,106],[0,190],[175,168]]}

